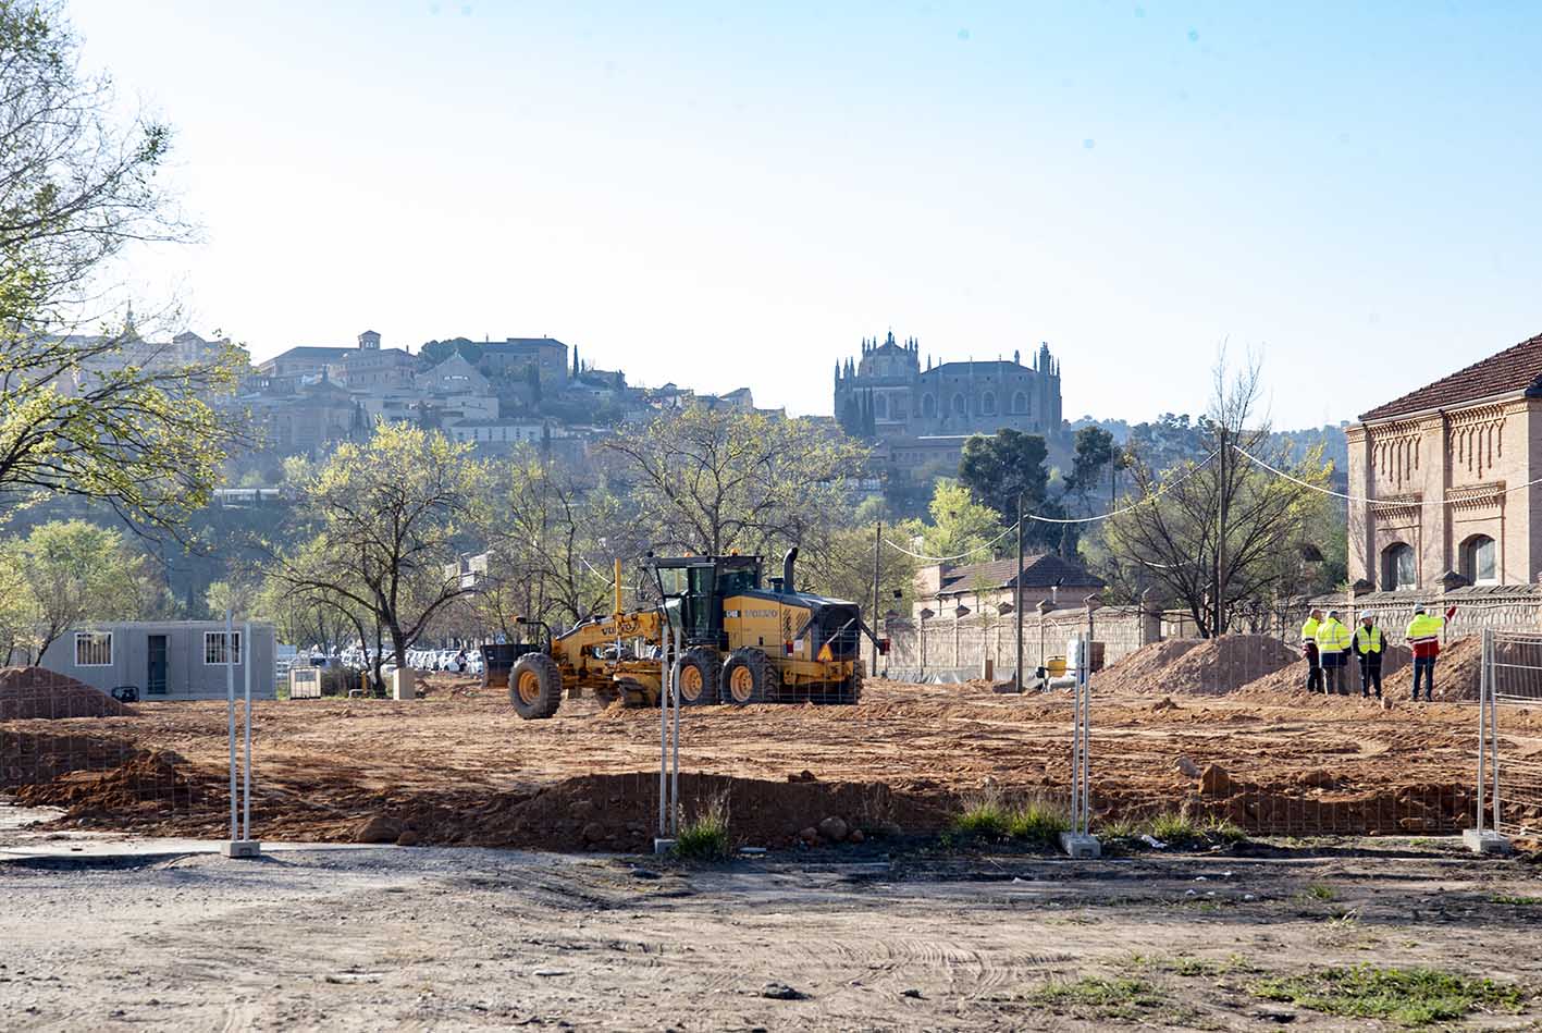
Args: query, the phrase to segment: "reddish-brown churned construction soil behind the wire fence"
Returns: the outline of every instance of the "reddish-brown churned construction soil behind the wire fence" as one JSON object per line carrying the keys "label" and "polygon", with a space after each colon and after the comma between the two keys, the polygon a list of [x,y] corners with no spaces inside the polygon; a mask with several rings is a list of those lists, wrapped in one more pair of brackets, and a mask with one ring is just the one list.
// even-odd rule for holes
{"label": "reddish-brown churned construction soil behind the wire fence", "polygon": [[[1473,822],[1471,703],[1414,705],[1406,672],[1380,705],[1359,691],[1308,695],[1297,688],[1305,668],[1284,648],[1229,643],[1160,643],[1095,677],[1095,820],[1187,809],[1301,836],[1454,833]],[[1243,683],[1244,669],[1260,675]],[[1476,648],[1451,649],[1440,692],[1468,695],[1473,672]],[[657,711],[581,698],[564,700],[552,720],[524,722],[501,691],[469,678],[433,675],[424,688],[415,702],[258,703],[254,833],[648,845]],[[680,797],[688,819],[725,805],[746,845],[794,843],[827,817],[867,836],[934,833],[982,794],[1064,799],[1070,728],[1067,692],[1001,695],[988,685],[870,680],[859,706],[688,708]],[[1508,709],[1503,732],[1517,754],[1542,755],[1537,711]],[[0,723],[0,789],[65,808],[71,825],[221,836],[227,759],[222,702]],[[1517,806],[1517,817],[1542,819]]]}

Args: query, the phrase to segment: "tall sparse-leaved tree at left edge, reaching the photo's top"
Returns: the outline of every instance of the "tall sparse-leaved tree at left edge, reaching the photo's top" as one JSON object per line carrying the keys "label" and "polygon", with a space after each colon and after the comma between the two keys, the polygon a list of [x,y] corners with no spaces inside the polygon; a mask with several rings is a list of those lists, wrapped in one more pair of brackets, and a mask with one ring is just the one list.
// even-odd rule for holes
{"label": "tall sparse-leaved tree at left edge, reaching the photo's top", "polygon": [[241,359],[174,362],[86,315],[125,247],[185,230],[157,185],[170,131],[117,120],[77,49],[57,6],[0,3],[0,515],[68,493],[176,527],[217,483],[233,429],[208,399]]}

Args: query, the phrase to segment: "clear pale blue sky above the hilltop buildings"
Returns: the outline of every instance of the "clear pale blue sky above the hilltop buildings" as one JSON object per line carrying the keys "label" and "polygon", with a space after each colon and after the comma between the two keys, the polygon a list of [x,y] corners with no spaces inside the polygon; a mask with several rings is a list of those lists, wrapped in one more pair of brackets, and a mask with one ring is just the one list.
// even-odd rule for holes
{"label": "clear pale blue sky above the hilltop buildings", "polygon": [[1305,426],[1542,333],[1536,3],[69,11],[177,126],[142,284],[259,358],[544,333],[817,413],[893,327],[1133,421],[1227,339]]}

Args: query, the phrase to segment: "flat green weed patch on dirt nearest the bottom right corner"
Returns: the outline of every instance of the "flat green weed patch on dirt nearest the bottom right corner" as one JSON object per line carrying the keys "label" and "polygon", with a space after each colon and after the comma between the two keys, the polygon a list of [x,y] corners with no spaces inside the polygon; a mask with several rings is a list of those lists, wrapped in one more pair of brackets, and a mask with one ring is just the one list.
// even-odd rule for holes
{"label": "flat green weed patch on dirt nearest the bottom right corner", "polygon": [[1386,1019],[1409,1027],[1449,1022],[1476,1010],[1516,1013],[1525,1007],[1516,987],[1436,968],[1320,968],[1263,979],[1249,987],[1249,993],[1325,1014]]}

